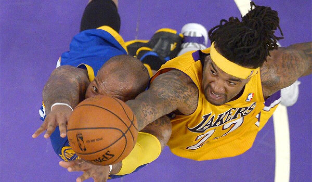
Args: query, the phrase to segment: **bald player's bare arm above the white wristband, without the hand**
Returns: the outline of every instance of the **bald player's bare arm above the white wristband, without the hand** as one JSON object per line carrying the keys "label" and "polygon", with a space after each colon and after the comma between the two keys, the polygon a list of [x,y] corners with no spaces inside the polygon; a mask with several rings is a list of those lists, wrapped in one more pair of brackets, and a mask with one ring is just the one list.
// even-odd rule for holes
{"label": "bald player's bare arm above the white wristband, without the hand", "polygon": [[50,113],[51,105],[56,102],[66,103],[74,108],[84,99],[89,84],[86,70],[74,66],[57,67],[42,91],[46,114]]}

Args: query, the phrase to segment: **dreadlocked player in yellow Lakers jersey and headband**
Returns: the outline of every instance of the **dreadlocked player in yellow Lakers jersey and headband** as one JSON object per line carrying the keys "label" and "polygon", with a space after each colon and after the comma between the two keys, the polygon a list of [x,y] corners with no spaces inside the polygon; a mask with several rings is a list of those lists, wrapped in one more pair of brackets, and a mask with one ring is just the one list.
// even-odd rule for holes
{"label": "dreadlocked player in yellow Lakers jersey and headband", "polygon": [[[278,47],[277,12],[252,6],[242,21],[231,17],[213,27],[210,48],[168,61],[147,91],[126,102],[139,130],[170,114],[167,145],[175,155],[193,160],[236,156],[252,146],[265,102],[312,70],[311,42]],[[70,171],[89,166],[61,165]]]}

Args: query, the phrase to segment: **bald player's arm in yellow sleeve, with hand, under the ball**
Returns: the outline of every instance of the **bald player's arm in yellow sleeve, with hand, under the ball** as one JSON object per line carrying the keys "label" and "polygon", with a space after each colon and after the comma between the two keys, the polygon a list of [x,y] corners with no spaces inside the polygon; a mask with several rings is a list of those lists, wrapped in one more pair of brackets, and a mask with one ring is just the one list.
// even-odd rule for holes
{"label": "bald player's arm in yellow sleeve, with hand, under the ball", "polygon": [[[162,151],[166,146],[171,135],[171,122],[167,116],[163,116],[147,125],[141,132],[154,135],[159,140],[161,146],[160,150]],[[141,134],[139,133],[139,135]],[[121,172],[121,174],[119,175],[129,174],[135,169],[138,170],[138,168],[141,165],[150,163],[153,160],[155,160],[156,159],[155,157],[150,158],[149,156],[151,155],[151,153],[149,153],[150,152],[149,149],[155,148],[155,146],[151,145],[152,144],[149,142],[144,142],[140,143],[139,145],[135,145],[135,147],[141,148],[140,149],[141,152],[139,153],[144,154],[144,156],[139,155],[139,153],[136,151],[137,149],[132,150],[131,153],[123,160],[123,162],[119,162],[113,165],[110,174],[117,174],[119,172]],[[157,153],[157,151],[155,152]],[[130,159],[127,159],[129,157]],[[131,161],[131,163],[125,161]],[[109,166],[97,166],[85,162],[84,160],[81,159],[69,162],[61,161],[60,165],[64,168],[67,168],[67,170],[69,170],[70,172],[83,171],[84,173],[79,178],[77,178],[77,181],[84,181],[89,178],[93,178],[94,181],[106,181],[110,170]],[[123,170],[121,171],[121,169]]]}

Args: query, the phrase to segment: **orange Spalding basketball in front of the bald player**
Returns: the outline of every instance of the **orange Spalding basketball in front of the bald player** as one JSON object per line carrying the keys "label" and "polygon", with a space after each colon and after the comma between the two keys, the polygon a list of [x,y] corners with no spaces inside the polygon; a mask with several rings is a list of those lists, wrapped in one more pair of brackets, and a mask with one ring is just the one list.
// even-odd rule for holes
{"label": "orange Spalding basketball in front of the bald player", "polygon": [[67,123],[69,145],[83,160],[111,165],[133,149],[138,125],[129,106],[110,96],[95,96],[80,102]]}

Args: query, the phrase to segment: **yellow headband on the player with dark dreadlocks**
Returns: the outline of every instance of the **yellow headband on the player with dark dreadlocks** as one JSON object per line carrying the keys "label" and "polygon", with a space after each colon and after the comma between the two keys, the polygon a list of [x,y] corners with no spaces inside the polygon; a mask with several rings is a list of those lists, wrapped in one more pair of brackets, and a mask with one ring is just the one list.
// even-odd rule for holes
{"label": "yellow headband on the player with dark dreadlocks", "polygon": [[257,74],[258,68],[246,68],[227,60],[227,58],[217,52],[213,43],[210,47],[210,57],[222,71],[241,79],[247,79]]}

